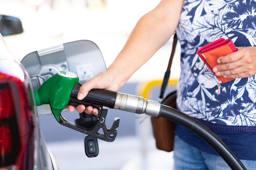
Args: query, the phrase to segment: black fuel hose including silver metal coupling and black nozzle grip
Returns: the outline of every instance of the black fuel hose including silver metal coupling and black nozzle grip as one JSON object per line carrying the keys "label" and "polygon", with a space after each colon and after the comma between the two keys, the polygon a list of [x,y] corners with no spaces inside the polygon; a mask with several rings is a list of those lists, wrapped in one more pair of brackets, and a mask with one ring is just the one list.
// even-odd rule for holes
{"label": "black fuel hose including silver metal coupling and black nozzle grip", "polygon": [[108,91],[92,89],[83,100],[77,99],[80,83],[77,83],[71,93],[70,102],[78,104],[98,104],[109,108],[139,113],[154,117],[163,117],[188,128],[207,142],[226,161],[232,170],[246,170],[243,163],[234,155],[227,145],[209,128],[196,119],[158,102],[146,100],[143,97]]}

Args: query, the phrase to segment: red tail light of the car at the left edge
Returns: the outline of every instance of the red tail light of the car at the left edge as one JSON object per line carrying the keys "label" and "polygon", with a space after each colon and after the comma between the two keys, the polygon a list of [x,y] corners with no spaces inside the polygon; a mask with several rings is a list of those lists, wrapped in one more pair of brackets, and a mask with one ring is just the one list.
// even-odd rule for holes
{"label": "red tail light of the car at the left edge", "polygon": [[34,113],[30,98],[24,81],[0,73],[0,169],[33,169]]}

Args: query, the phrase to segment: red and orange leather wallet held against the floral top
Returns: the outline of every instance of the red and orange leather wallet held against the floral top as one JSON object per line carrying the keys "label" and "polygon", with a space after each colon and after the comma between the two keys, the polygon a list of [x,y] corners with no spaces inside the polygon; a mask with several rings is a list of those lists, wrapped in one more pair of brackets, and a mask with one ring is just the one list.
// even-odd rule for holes
{"label": "red and orange leather wallet held against the floral top", "polygon": [[[225,40],[224,38],[220,38],[216,41],[213,41],[197,51],[199,57],[204,61],[204,63],[211,69],[213,72],[213,67],[218,65],[217,59],[221,56],[228,55],[229,53],[233,53],[238,51],[234,43],[231,39]],[[213,72],[214,75],[216,75]],[[217,76],[219,79],[219,93],[220,93],[220,82],[225,83],[229,82],[233,79],[225,78],[223,76]]]}

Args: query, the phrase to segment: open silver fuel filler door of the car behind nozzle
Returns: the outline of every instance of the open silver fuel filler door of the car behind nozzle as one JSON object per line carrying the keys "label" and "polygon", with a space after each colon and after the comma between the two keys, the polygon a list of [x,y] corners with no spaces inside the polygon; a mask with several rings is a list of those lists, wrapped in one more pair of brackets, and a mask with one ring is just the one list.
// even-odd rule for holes
{"label": "open silver fuel filler door of the car behind nozzle", "polygon": [[[26,55],[21,62],[29,73],[34,90],[58,71],[76,73],[81,84],[106,71],[99,47],[89,40],[67,42],[34,51]],[[48,105],[38,106],[38,113],[52,114]]]}

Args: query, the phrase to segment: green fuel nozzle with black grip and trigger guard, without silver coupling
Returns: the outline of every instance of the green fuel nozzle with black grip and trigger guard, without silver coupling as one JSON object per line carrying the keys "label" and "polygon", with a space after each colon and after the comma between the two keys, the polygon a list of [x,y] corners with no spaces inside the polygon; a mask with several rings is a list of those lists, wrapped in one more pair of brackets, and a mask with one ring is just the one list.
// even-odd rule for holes
{"label": "green fuel nozzle with black grip and trigger guard, without silver coupling", "polygon": [[[69,71],[59,71],[56,75],[47,79],[43,84],[34,90],[36,105],[49,104],[51,111],[58,123],[72,128],[79,132],[85,133],[92,137],[112,142],[117,135],[117,127],[119,126],[119,118],[115,118],[110,129],[106,128],[105,119],[108,112],[106,106],[114,106],[117,92],[105,91],[99,93],[93,89],[86,99],[78,100],[77,94],[82,84],[75,73]],[[74,122],[66,120],[62,115],[62,110],[67,105],[78,106],[80,104],[93,106],[99,111],[99,115],[88,115],[79,113],[79,118]],[[100,129],[103,130],[99,132]]]}

